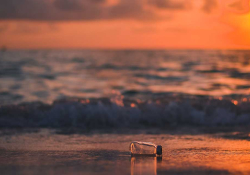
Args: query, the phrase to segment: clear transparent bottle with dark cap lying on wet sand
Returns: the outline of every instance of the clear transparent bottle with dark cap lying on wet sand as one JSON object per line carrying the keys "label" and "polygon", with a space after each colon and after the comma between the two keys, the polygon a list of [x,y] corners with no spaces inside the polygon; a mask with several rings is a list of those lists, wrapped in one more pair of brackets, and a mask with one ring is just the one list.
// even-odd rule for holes
{"label": "clear transparent bottle with dark cap lying on wet sand", "polygon": [[132,142],[130,144],[131,155],[152,155],[161,156],[162,147],[160,145],[155,145],[150,142]]}

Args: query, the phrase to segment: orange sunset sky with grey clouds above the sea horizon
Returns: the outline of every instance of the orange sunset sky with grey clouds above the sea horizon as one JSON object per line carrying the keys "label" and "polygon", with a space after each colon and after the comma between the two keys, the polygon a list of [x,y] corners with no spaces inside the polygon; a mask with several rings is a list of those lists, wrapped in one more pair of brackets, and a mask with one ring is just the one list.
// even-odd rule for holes
{"label": "orange sunset sky with grey clouds above the sea horizon", "polygon": [[0,0],[10,49],[250,49],[249,0]]}

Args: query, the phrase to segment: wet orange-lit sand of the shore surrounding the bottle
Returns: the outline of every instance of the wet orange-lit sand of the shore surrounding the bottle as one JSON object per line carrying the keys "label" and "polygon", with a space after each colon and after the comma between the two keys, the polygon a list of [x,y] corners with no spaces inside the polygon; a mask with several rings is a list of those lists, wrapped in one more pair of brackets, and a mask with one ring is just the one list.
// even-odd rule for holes
{"label": "wet orange-lit sand of the shore surrounding the bottle", "polygon": [[[57,134],[1,132],[1,174],[249,174],[250,142],[237,133]],[[233,137],[235,136],[235,137]],[[131,157],[131,141],[163,146],[162,158]]]}

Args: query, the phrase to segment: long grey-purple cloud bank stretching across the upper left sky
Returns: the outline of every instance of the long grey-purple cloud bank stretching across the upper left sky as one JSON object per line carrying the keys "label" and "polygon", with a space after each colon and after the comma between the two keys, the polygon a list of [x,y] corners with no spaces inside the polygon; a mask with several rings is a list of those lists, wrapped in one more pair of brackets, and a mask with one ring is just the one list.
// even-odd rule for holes
{"label": "long grey-purple cloud bank stretching across the upper left sky", "polygon": [[110,20],[159,18],[152,6],[165,10],[182,10],[186,1],[179,0],[0,0],[0,20]]}

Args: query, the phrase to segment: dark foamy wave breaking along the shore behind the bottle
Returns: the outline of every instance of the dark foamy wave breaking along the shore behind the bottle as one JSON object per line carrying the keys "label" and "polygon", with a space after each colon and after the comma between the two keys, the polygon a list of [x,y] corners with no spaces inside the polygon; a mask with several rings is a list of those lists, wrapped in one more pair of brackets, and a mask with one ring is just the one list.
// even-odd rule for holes
{"label": "dark foamy wave breaking along the shore behind the bottle", "polygon": [[248,98],[161,97],[57,100],[0,107],[0,127],[38,128],[168,128],[169,126],[250,125]]}

